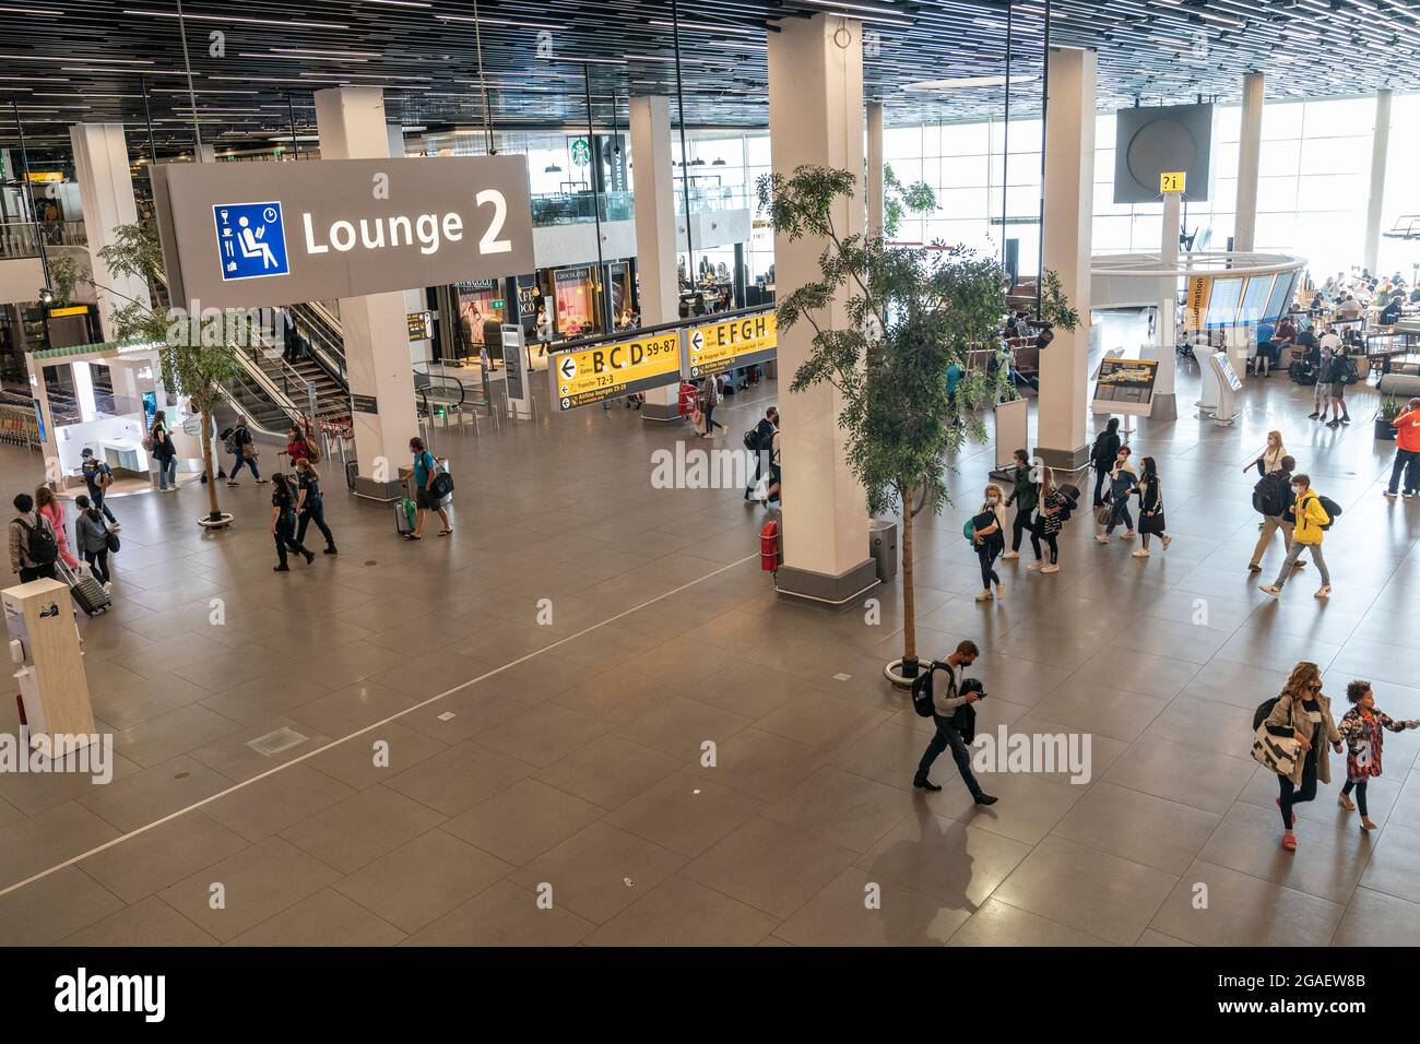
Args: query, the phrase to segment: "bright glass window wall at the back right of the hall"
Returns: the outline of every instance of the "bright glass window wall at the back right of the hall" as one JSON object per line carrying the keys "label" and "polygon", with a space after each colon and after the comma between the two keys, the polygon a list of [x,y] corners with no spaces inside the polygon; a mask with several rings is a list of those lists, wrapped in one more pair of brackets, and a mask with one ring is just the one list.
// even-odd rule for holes
{"label": "bright glass window wall at the back right of the hall", "polygon": [[[1262,111],[1257,249],[1306,257],[1314,274],[1360,266],[1375,98],[1328,98],[1268,104]],[[1420,139],[1406,128],[1420,119],[1420,95],[1397,95],[1392,114],[1387,195],[1383,227],[1400,213],[1420,213],[1420,183],[1409,176],[1420,162]],[[1214,111],[1214,180],[1207,200],[1184,207],[1184,230],[1196,250],[1225,250],[1237,210],[1241,109]],[[905,220],[897,239],[907,243],[964,243],[1001,256],[1003,239],[1017,239],[1020,271],[1032,274],[1039,249],[1041,124],[1012,119],[1010,162],[1003,121],[923,124],[883,132],[883,152],[897,178],[924,180],[937,193],[937,210]],[[1157,250],[1162,203],[1116,205],[1115,116],[1095,125],[1093,249]],[[1003,179],[1004,186],[1003,200]],[[1003,234],[1003,202],[1005,226]],[[1420,243],[1382,240],[1382,264],[1410,273]]]}

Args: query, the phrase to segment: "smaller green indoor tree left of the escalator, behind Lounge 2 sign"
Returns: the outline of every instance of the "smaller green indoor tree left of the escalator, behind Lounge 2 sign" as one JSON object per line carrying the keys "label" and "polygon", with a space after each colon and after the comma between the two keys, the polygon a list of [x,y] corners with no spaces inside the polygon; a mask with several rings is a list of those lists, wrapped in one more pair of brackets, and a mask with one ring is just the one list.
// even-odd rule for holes
{"label": "smaller green indoor tree left of the escalator, behind Lounge 2 sign", "polygon": [[[152,288],[163,273],[163,253],[158,229],[152,222],[135,222],[114,229],[114,241],[99,250],[99,259],[114,276],[135,277]],[[72,254],[50,263],[54,295],[62,304],[72,298],[78,284],[94,287],[119,304],[114,308],[115,339],[160,345],[162,381],[186,395],[202,415],[202,467],[207,480],[207,514],[199,518],[204,528],[224,528],[231,516],[217,503],[216,470],[212,460],[212,415],[217,406],[219,389],[237,376],[239,364],[227,335],[250,337],[246,322],[227,324],[222,314],[202,318],[173,312],[159,312],[152,300],[139,301],[112,287],[94,281],[88,268],[81,268]],[[151,290],[149,290],[151,293]],[[189,321],[190,320],[190,321]],[[180,324],[180,328],[175,324]],[[229,330],[229,325],[231,330]]]}

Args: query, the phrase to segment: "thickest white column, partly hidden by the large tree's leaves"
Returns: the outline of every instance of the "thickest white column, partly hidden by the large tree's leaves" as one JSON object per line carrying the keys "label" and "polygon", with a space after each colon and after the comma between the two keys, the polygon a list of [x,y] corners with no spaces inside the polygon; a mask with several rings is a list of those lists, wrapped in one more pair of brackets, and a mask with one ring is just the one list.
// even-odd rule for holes
{"label": "thickest white column, partly hidden by the large tree's leaves", "polygon": [[[845,31],[848,45],[842,45]],[[836,38],[835,38],[836,37]],[[862,23],[836,14],[788,18],[770,33],[770,139],[772,169],[791,176],[805,163],[863,170]],[[834,203],[839,236],[866,230],[858,192]],[[821,277],[824,241],[774,236],[775,283],[788,294]],[[824,317],[829,327],[849,322],[842,301]],[[780,388],[808,359],[814,331],[807,322],[780,332]],[[781,591],[845,602],[873,581],[868,558],[868,504],[848,467],[838,426],[842,399],[829,385],[782,393],[784,567]]]}

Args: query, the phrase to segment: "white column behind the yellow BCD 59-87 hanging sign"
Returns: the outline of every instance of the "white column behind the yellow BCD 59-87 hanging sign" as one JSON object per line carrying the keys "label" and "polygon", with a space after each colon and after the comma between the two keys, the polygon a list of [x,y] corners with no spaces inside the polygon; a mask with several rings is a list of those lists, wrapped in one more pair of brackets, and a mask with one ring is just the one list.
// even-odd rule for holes
{"label": "white column behind the yellow BCD 59-87 hanging sign", "polygon": [[[676,277],[674,172],[670,165],[670,99],[632,98],[630,155],[636,165],[636,274],[640,278],[640,324],[679,318],[680,281]],[[676,420],[677,384],[646,392],[642,418]]]}

